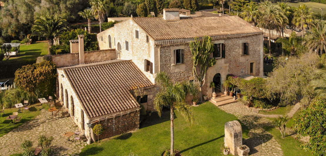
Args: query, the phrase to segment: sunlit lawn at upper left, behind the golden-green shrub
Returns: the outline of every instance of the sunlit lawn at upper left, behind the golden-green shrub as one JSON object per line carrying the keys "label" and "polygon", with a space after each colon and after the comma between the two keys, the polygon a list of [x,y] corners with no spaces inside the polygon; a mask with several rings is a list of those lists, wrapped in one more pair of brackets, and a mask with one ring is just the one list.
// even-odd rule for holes
{"label": "sunlit lawn at upper left, behind the golden-green shrub", "polygon": [[15,56],[10,57],[10,59],[25,59],[25,60],[36,60],[37,57],[48,55],[48,42],[38,41],[31,45],[21,45],[20,54],[16,58]]}

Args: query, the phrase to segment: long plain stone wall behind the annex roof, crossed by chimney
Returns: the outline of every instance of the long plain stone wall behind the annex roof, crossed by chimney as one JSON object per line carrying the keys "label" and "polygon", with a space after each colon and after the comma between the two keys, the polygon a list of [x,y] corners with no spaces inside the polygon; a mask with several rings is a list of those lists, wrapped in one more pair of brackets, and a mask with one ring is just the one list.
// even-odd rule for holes
{"label": "long plain stone wall behind the annex roof, crossed by chimney", "polygon": [[[117,59],[115,49],[86,51],[84,55],[85,63]],[[52,57],[52,61],[57,65],[57,67],[79,64],[79,53],[68,53],[50,56]],[[38,57],[37,59],[42,59],[42,57]]]}

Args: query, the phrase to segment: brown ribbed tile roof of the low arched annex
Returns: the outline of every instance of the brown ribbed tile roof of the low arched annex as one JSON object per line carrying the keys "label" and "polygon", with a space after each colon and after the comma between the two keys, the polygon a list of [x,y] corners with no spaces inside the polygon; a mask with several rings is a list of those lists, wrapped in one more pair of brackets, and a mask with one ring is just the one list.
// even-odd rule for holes
{"label": "brown ribbed tile roof of the low arched annex", "polygon": [[153,86],[131,60],[115,59],[60,69],[91,118],[140,108],[130,90]]}

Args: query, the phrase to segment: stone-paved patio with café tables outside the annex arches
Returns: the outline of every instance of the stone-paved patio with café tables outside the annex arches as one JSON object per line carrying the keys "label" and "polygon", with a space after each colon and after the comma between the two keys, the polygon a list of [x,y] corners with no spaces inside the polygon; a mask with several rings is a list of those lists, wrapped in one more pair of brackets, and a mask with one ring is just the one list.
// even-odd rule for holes
{"label": "stone-paved patio with caf\u00e9 tables outside the annex arches", "polygon": [[[48,115],[50,115],[50,112],[43,109],[35,120],[24,123],[0,137],[0,155],[22,153],[20,145],[24,139],[33,141],[33,147],[36,147],[37,138],[42,134],[54,137],[52,155],[74,155],[80,153],[86,145],[86,141],[81,140],[81,142],[77,141],[69,144],[69,142],[66,143],[67,137],[63,136],[64,132],[74,132],[77,129],[72,119],[67,116],[58,119],[48,119]],[[74,136],[71,136],[70,139],[74,139]]]}

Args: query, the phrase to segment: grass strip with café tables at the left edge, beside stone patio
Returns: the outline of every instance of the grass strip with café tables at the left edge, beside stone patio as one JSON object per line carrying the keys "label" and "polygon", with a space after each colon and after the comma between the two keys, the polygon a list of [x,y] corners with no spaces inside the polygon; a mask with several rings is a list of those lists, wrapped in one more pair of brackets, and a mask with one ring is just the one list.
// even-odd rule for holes
{"label": "grass strip with caf\u00e9 tables at the left edge, beside stone patio", "polygon": [[22,118],[21,118],[21,122],[16,123],[15,125],[9,125],[11,120],[7,120],[6,118],[9,115],[12,115],[12,112],[17,112],[18,108],[5,109],[5,114],[1,113],[0,115],[0,137],[9,133],[12,129],[21,126],[23,123],[34,119],[37,115],[40,114],[41,109],[43,108],[47,109],[48,107],[49,107],[48,105],[46,104],[40,105],[40,103],[31,105],[30,111],[26,111],[26,113],[24,113],[24,111],[22,111],[22,113],[18,113],[18,116],[21,116]]}

